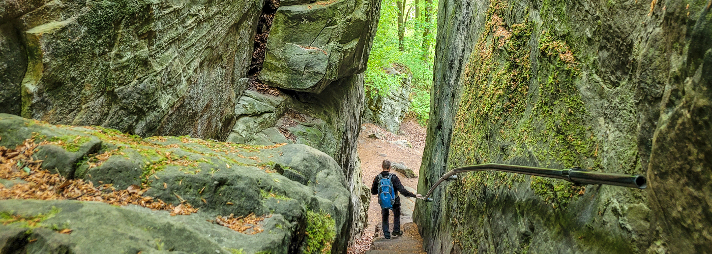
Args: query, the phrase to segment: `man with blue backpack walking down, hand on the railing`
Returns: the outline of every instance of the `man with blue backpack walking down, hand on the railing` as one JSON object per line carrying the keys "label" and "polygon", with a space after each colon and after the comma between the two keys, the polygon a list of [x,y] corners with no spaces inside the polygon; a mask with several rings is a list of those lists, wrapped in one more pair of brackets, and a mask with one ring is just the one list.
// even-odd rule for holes
{"label": "man with blue backpack walking down, hand on the railing", "polygon": [[381,215],[383,218],[383,236],[386,239],[390,239],[391,234],[388,228],[389,210],[393,210],[393,236],[401,236],[403,234],[403,232],[400,231],[400,198],[397,192],[409,198],[416,198],[421,195],[412,194],[403,187],[398,176],[391,173],[391,162],[387,159],[383,161],[381,166],[383,171],[373,179],[371,194],[378,195],[378,203],[381,205]]}

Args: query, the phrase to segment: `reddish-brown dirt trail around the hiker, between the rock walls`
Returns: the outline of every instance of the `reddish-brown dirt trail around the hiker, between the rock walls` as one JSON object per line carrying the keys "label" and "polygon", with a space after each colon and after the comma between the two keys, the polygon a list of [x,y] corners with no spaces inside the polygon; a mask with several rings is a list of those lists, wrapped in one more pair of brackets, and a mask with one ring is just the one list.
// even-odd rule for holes
{"label": "reddish-brown dirt trail around the hiker, between the rock walls", "polygon": [[[380,134],[380,139],[369,137],[376,132]],[[412,169],[417,176],[423,157],[423,149],[425,147],[425,135],[425,127],[418,125],[412,118],[407,118],[403,121],[399,134],[393,134],[376,125],[363,124],[358,139],[358,153],[361,159],[364,184],[369,187],[371,186],[374,177],[382,171],[381,163],[384,159],[405,164],[409,169]],[[399,140],[409,141],[412,147],[391,143]],[[395,170],[391,172],[401,179],[404,186],[417,189],[417,177],[409,179],[404,176],[404,174]],[[401,216],[404,235],[388,240],[383,238],[381,232],[378,232],[374,240],[374,233],[376,233],[375,227],[381,223],[381,209],[378,205],[377,196],[371,196],[371,205],[368,211],[368,226],[365,229],[363,237],[349,253],[360,254],[365,253],[366,250],[370,250],[367,253],[423,253],[422,251],[417,251],[422,250],[422,239],[418,235],[417,226],[415,223],[412,223],[412,216],[410,216],[412,215],[412,209],[414,207],[412,204],[409,205],[407,201],[402,201],[402,203],[402,213],[405,214]],[[392,223],[391,216],[390,224],[392,225]],[[371,243],[373,243],[372,246]],[[406,246],[409,247],[405,248]],[[387,252],[388,249],[397,250],[397,252]]]}

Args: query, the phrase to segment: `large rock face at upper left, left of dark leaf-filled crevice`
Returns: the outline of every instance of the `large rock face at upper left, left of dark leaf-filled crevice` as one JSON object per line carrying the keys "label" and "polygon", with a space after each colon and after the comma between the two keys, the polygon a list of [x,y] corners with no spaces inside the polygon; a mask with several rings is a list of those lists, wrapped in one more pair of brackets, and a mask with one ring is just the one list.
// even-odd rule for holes
{"label": "large rock face at upper left, left of dark leaf-filled crevice", "polygon": [[8,4],[0,17],[0,68],[7,72],[0,79],[2,112],[144,137],[224,139],[234,123],[234,90],[244,90],[237,81],[251,61],[262,5]]}

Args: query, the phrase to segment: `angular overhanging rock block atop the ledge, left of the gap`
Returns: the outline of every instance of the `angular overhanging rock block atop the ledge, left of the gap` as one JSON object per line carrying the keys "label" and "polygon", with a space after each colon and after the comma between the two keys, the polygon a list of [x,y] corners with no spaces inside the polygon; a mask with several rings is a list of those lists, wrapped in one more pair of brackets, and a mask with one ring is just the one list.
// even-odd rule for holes
{"label": "angular overhanging rock block atop the ledge, left of the gap", "polygon": [[282,5],[274,17],[260,80],[321,92],[366,68],[380,13],[378,0]]}

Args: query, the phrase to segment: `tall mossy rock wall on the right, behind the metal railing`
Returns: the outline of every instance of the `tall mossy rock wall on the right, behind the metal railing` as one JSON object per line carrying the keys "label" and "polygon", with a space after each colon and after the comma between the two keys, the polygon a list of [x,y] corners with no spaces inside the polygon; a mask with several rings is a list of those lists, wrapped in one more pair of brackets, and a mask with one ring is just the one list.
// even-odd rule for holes
{"label": "tall mossy rock wall on the right, behind the metal railing", "polygon": [[419,189],[488,162],[645,174],[649,185],[464,174],[417,202],[426,250],[712,251],[707,1],[444,1],[439,17]]}

